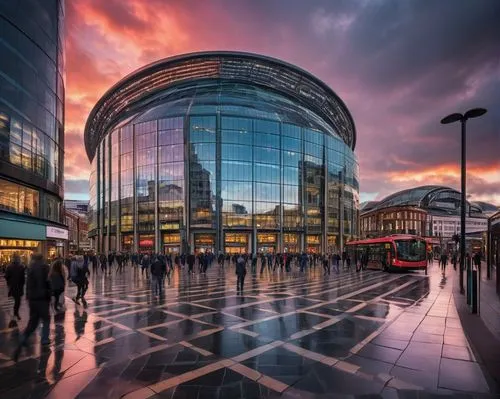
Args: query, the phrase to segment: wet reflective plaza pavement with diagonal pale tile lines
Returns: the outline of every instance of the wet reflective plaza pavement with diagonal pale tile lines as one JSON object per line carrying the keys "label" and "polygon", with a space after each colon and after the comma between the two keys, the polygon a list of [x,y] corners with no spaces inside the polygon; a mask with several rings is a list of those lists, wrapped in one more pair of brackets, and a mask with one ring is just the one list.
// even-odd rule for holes
{"label": "wet reflective plaza pavement with diagonal pale tile lines", "polygon": [[[154,298],[134,270],[92,276],[18,363],[0,281],[0,398],[426,398],[493,394],[462,330],[453,270],[175,271]],[[21,328],[27,323],[23,302]]]}

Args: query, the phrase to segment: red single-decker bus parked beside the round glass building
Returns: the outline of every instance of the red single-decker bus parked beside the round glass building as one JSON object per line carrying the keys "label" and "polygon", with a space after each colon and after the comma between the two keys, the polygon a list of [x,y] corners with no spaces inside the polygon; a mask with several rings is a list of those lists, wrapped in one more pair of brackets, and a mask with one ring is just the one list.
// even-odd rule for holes
{"label": "red single-decker bus parked beside the round glass building", "polygon": [[355,265],[366,269],[424,270],[427,274],[427,243],[414,235],[391,235],[351,241],[346,250]]}

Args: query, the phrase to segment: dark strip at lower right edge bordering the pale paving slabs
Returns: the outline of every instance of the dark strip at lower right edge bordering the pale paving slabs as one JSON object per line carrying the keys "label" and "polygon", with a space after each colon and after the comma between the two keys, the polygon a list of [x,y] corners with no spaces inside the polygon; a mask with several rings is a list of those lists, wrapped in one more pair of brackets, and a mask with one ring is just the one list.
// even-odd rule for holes
{"label": "dark strip at lower right edge bordering the pale paving slabs", "polygon": [[500,341],[486,327],[479,315],[472,314],[466,296],[453,287],[453,298],[458,316],[474,356],[479,361],[492,394],[500,393]]}

